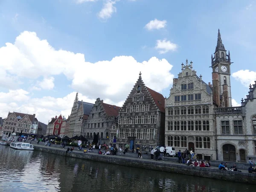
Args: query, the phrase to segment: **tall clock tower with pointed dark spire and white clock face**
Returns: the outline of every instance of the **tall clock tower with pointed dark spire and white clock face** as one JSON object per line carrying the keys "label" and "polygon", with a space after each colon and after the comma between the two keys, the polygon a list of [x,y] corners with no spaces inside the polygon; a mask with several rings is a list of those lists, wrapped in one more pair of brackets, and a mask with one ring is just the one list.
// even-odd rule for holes
{"label": "tall clock tower with pointed dark spire and white clock face", "polygon": [[212,56],[212,88],[213,101],[218,107],[232,107],[230,85],[230,52],[222,44],[221,33],[218,30],[218,41],[214,56]]}

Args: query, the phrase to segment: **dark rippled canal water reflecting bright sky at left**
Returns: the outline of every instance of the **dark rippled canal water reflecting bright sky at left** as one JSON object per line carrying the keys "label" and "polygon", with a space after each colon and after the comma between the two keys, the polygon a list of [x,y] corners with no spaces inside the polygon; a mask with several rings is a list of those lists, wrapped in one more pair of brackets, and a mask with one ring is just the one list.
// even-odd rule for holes
{"label": "dark rippled canal water reflecting bright sky at left", "polygon": [[0,145],[0,192],[255,192],[256,185],[151,171]]}

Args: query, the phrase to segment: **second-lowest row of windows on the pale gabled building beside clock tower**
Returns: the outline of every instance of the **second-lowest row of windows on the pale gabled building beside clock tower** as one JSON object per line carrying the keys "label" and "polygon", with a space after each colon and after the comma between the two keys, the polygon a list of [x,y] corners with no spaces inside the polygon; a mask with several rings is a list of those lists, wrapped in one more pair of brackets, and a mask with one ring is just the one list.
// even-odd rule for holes
{"label": "second-lowest row of windows on the pale gabled building beside clock tower", "polygon": [[168,131],[209,131],[209,121],[168,121]]}

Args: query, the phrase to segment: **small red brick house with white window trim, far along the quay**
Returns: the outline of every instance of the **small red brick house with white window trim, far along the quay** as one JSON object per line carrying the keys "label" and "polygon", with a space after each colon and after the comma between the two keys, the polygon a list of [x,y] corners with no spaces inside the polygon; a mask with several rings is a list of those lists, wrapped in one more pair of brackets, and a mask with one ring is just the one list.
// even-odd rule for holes
{"label": "small red brick house with white window trim, far along the quay", "polygon": [[58,117],[56,115],[55,118],[52,117],[52,120],[49,121],[47,125],[46,135],[53,135],[53,134],[59,135],[61,133],[62,122],[63,122],[63,117],[61,115]]}

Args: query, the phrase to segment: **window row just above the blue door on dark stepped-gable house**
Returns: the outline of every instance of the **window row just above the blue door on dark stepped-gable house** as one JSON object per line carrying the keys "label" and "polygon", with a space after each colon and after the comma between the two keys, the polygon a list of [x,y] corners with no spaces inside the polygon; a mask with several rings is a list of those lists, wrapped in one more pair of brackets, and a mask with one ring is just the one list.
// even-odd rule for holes
{"label": "window row just above the blue door on dark stepped-gable house", "polygon": [[119,136],[120,139],[127,139],[128,137],[136,137],[136,139],[141,140],[154,140],[155,139],[155,131],[154,129],[143,129],[143,128],[120,128]]}

